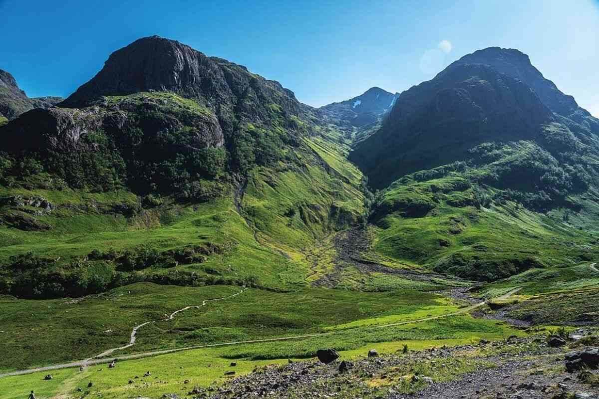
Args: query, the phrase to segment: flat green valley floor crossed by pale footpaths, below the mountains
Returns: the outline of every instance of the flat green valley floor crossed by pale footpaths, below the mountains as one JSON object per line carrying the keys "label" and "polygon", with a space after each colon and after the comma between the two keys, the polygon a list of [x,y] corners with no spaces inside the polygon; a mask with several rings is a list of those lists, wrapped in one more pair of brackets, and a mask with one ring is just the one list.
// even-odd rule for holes
{"label": "flat green valley floor crossed by pale footpaths, below the mountains", "polygon": [[[297,290],[140,282],[75,300],[3,297],[2,398],[31,389],[41,399],[252,397],[265,386],[289,398],[510,397],[533,368],[553,373],[537,385],[563,373],[561,352],[543,346],[547,328],[528,325],[594,324],[585,307],[599,296],[594,264],[480,285],[380,257],[368,234],[350,229],[307,248],[312,266]],[[547,299],[553,308],[544,314]],[[306,360],[321,348],[335,348],[353,368],[341,375],[338,362]],[[364,359],[370,349],[382,357]],[[435,357],[443,358],[438,369]],[[331,384],[337,394],[327,392]]]}

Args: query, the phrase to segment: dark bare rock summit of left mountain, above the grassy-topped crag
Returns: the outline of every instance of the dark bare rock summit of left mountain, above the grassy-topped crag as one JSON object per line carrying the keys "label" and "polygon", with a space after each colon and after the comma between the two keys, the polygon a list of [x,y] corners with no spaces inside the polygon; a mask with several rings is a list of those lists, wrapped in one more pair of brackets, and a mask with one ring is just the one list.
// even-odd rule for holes
{"label": "dark bare rock summit of left mountain, above the grassy-topped crag", "polygon": [[152,90],[198,100],[214,111],[226,133],[234,130],[237,121],[269,123],[273,120],[271,104],[287,116],[299,116],[307,109],[276,81],[159,36],[141,38],[114,51],[104,68],[60,106],[81,108],[102,96]]}

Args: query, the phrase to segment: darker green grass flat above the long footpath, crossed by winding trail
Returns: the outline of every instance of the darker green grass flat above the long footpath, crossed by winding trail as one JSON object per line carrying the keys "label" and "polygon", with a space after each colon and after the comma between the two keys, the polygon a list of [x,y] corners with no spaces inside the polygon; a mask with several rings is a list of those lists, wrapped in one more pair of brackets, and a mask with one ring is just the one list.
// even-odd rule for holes
{"label": "darker green grass flat above the long footpath, crossed by winding trail", "polygon": [[[176,287],[138,283],[83,300],[0,300],[0,368],[44,366],[92,357],[124,345],[135,325],[164,318],[202,300],[240,291],[229,286]],[[435,294],[359,293],[304,289],[289,293],[249,289],[232,299],[147,325],[128,352],[178,348],[342,330],[453,311]],[[115,354],[116,355],[116,354]]]}

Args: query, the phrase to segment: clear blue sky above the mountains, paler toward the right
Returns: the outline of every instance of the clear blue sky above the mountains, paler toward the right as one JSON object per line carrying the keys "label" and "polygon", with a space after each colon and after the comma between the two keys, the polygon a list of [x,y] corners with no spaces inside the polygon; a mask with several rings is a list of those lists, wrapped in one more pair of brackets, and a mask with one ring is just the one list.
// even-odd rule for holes
{"label": "clear blue sky above the mountains, paler toward the right", "polygon": [[0,68],[29,96],[69,95],[150,35],[246,65],[314,106],[372,86],[401,92],[500,46],[599,117],[597,0],[0,0],[0,20]]}

